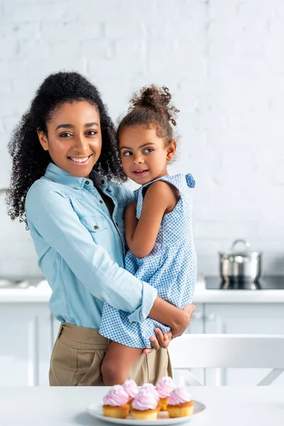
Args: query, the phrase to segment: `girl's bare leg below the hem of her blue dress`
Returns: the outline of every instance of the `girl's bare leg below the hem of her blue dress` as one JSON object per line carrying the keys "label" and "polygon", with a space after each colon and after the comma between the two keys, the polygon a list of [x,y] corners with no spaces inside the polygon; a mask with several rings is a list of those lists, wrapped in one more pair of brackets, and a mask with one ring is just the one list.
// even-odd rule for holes
{"label": "girl's bare leg below the hem of her blue dress", "polygon": [[106,386],[121,385],[129,378],[129,370],[143,349],[111,342],[102,362],[102,378]]}

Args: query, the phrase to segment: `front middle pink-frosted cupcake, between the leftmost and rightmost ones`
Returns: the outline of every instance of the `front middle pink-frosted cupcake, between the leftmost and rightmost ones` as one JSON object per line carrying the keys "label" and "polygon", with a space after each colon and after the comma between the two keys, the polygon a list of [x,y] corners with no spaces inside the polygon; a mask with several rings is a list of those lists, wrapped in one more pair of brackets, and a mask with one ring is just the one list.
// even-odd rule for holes
{"label": "front middle pink-frosted cupcake, between the leftmost and rightmost ones", "polygon": [[146,383],[132,401],[131,415],[136,420],[156,420],[159,412],[159,395],[155,386]]}

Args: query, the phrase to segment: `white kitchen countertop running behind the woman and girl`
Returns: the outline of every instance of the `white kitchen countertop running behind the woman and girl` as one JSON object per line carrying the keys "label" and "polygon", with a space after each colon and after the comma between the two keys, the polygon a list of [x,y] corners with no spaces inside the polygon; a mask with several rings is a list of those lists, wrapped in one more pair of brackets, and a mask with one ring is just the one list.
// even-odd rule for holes
{"label": "white kitchen countertop running behind the woman and girl", "polygon": [[[48,303],[51,289],[47,281],[38,287],[0,288],[1,303]],[[199,278],[193,303],[283,303],[284,290],[207,290],[204,279]]]}

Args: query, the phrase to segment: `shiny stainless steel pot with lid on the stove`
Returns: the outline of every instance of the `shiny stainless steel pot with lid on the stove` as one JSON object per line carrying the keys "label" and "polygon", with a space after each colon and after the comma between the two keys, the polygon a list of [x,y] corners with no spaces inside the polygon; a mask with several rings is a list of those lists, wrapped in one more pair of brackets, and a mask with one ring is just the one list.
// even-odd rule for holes
{"label": "shiny stainless steel pot with lid on the stove", "polygon": [[[236,250],[237,244],[243,244],[244,249]],[[220,274],[224,281],[251,280],[257,281],[261,276],[262,253],[252,251],[248,241],[237,239],[231,246],[230,253],[219,253]]]}

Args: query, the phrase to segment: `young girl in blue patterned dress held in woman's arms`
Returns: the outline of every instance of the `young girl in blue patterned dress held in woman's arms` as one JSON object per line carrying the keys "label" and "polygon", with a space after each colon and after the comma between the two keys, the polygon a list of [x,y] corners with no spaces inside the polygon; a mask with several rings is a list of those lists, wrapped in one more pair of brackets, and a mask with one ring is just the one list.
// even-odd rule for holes
{"label": "young girl in blue patterned dress held in woman's arms", "polygon": [[[196,254],[192,241],[192,175],[168,175],[175,155],[175,114],[166,87],[141,89],[131,100],[129,114],[118,129],[119,150],[126,175],[141,185],[136,202],[126,207],[126,269],[146,280],[158,295],[182,308],[191,302],[196,281]],[[104,383],[123,383],[129,368],[149,347],[161,322],[147,318],[130,322],[126,312],[105,304],[99,333],[113,342],[102,364]]]}

